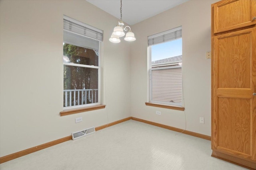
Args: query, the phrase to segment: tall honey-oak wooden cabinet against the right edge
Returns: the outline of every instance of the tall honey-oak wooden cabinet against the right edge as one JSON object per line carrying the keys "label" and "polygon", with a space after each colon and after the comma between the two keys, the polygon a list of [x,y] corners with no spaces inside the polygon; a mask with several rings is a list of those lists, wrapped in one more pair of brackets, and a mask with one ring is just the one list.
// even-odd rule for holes
{"label": "tall honey-oak wooden cabinet against the right edge", "polygon": [[256,169],[256,0],[212,4],[212,156]]}

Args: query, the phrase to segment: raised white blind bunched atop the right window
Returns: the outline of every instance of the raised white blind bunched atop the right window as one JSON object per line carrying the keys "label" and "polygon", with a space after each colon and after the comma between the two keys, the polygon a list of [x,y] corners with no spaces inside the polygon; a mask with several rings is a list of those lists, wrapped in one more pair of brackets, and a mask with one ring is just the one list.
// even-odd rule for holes
{"label": "raised white blind bunched atop the right window", "polygon": [[182,27],[177,27],[168,31],[157,33],[148,36],[148,46],[155,45],[159,43],[164,43],[167,41],[172,41],[182,37]]}

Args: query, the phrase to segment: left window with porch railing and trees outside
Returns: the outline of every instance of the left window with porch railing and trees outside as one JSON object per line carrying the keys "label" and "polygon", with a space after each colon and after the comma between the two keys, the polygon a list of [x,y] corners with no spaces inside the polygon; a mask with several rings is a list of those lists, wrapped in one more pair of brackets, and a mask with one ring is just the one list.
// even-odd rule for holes
{"label": "left window with porch railing and trees outside", "polygon": [[64,109],[100,104],[102,30],[64,16]]}

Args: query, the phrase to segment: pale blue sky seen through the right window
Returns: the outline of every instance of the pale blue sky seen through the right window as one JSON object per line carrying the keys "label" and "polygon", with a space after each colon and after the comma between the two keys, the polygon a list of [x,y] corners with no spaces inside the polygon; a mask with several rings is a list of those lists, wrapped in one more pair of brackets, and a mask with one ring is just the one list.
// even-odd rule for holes
{"label": "pale blue sky seen through the right window", "polygon": [[151,61],[182,55],[182,38],[151,46]]}

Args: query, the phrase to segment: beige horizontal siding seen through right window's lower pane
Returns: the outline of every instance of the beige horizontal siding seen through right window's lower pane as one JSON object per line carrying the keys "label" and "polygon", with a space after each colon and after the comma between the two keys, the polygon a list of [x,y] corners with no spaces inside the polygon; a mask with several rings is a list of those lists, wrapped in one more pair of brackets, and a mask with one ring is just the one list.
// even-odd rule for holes
{"label": "beige horizontal siding seen through right window's lower pane", "polygon": [[152,101],[161,101],[166,104],[182,104],[182,70],[166,68],[152,70]]}

